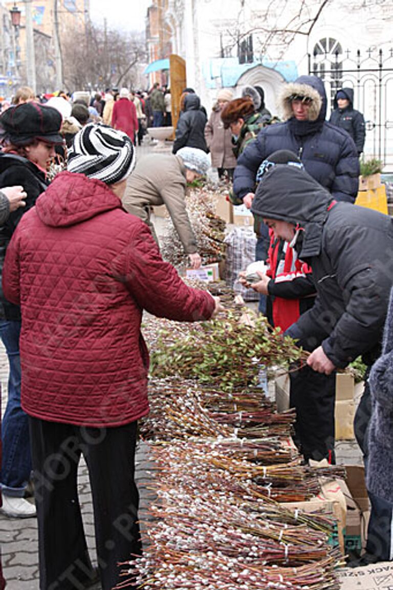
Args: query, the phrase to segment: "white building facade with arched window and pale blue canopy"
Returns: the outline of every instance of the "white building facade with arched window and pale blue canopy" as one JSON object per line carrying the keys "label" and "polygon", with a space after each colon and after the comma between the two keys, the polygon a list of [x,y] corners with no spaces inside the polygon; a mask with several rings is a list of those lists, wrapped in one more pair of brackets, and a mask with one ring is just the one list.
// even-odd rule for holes
{"label": "white building facade with arched window and pale blue canopy", "polygon": [[335,91],[354,89],[353,106],[367,122],[365,153],[391,158],[393,171],[393,0],[168,0],[165,22],[173,53],[186,61],[187,86],[207,110],[217,89],[237,97],[259,84],[280,116],[281,85],[316,73],[328,116]]}

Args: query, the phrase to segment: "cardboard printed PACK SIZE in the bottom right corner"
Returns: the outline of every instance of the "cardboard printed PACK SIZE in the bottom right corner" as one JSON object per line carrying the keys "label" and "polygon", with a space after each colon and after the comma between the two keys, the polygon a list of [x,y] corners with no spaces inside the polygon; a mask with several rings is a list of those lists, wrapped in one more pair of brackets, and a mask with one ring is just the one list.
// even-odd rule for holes
{"label": "cardboard printed PACK SIZE in the bottom right corner", "polygon": [[393,562],[337,571],[340,590],[393,590]]}

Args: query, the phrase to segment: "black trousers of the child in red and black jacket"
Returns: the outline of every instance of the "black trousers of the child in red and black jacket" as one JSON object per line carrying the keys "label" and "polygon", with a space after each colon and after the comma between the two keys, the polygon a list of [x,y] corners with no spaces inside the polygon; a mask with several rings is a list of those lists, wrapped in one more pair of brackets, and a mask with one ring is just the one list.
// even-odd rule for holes
{"label": "black trousers of the child in red and black jacket", "polygon": [[290,407],[296,408],[294,442],[307,461],[335,463],[336,373],[305,365],[290,373]]}

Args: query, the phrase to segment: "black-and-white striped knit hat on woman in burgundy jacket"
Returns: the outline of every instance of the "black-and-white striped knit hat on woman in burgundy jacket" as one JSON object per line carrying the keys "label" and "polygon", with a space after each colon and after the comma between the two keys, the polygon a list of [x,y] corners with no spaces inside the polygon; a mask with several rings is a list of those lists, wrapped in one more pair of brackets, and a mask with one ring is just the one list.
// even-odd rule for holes
{"label": "black-and-white striped knit hat on woman in burgundy jacket", "polygon": [[108,185],[127,178],[135,167],[129,136],[107,125],[89,123],[76,134],[68,151],[67,170]]}

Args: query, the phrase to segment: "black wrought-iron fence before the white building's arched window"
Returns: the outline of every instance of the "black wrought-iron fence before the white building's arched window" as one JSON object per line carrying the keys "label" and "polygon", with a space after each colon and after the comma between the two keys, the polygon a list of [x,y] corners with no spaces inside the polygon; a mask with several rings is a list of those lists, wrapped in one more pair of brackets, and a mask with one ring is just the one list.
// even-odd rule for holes
{"label": "black wrought-iron fence before the white building's arched window", "polygon": [[381,159],[384,172],[393,173],[393,49],[371,48],[361,55],[343,52],[337,41],[325,38],[309,55],[309,73],[325,82],[330,110],[338,89],[353,89],[353,107],[366,121],[365,157]]}

